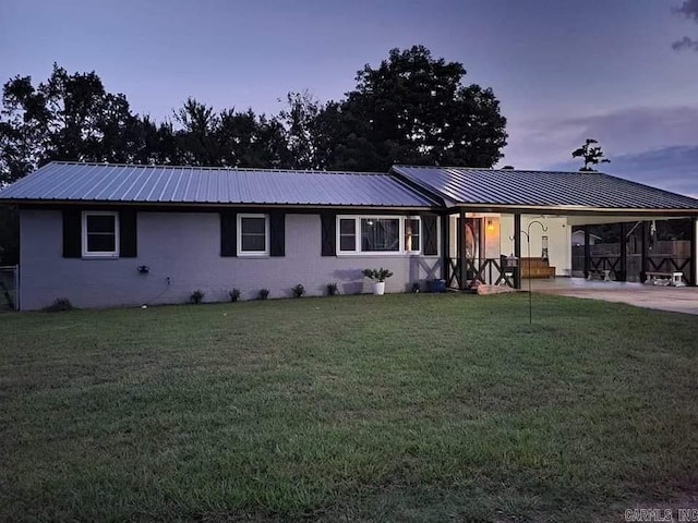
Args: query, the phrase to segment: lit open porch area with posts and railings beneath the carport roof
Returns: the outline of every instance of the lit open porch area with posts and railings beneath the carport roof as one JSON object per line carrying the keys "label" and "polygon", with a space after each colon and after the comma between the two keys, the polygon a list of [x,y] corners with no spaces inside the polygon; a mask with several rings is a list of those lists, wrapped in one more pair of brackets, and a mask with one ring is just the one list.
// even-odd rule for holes
{"label": "lit open porch area with posts and railings beneath the carport roof", "polygon": [[[658,223],[660,229],[682,229],[683,240],[662,241]],[[613,239],[604,243],[593,234],[599,227],[613,231]],[[688,285],[698,281],[695,217],[524,215],[461,208],[442,218],[442,234],[443,278],[456,290],[479,283],[521,289],[529,272],[542,278],[534,281],[600,275],[617,282],[643,282],[655,275],[679,275]]]}

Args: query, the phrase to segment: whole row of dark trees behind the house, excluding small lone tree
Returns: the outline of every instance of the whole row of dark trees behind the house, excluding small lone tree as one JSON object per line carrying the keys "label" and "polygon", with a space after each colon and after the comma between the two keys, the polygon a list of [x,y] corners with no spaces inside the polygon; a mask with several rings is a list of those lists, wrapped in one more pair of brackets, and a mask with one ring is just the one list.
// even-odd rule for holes
{"label": "whole row of dark trees behind the house, excluding small lone tree", "polygon": [[[0,111],[0,187],[52,160],[385,172],[394,163],[492,167],[506,119],[459,62],[414,46],[357,72],[340,100],[289,93],[277,114],[195,98],[156,121],[96,72],[58,64],[48,80],[10,78]],[[16,209],[0,206],[0,264],[19,258]]]}

